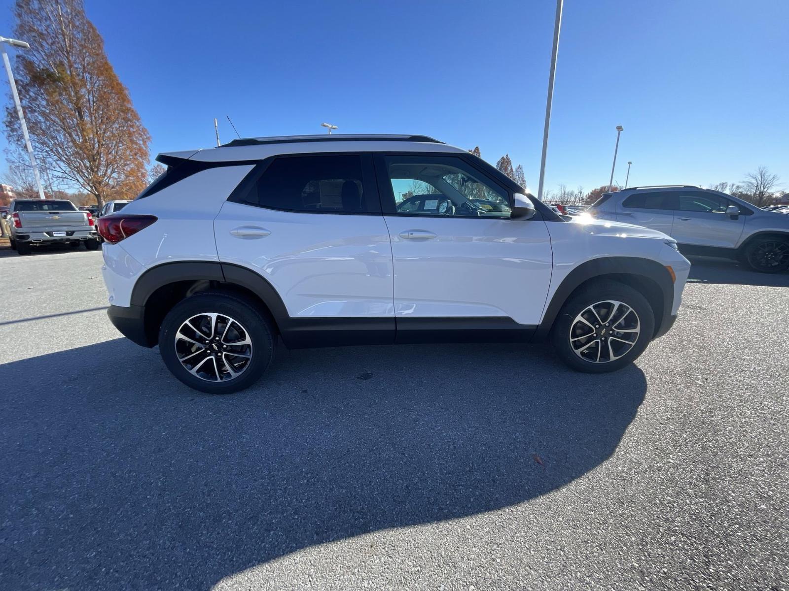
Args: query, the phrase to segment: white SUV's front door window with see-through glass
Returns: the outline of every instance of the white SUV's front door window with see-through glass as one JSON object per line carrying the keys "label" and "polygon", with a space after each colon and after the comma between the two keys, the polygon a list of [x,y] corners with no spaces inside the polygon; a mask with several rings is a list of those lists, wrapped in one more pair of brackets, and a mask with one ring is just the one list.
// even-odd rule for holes
{"label": "white SUV's front door window with see-through glass", "polygon": [[510,217],[507,191],[461,158],[387,156],[384,162],[398,214]]}

